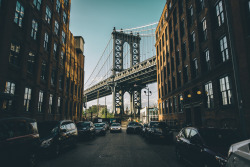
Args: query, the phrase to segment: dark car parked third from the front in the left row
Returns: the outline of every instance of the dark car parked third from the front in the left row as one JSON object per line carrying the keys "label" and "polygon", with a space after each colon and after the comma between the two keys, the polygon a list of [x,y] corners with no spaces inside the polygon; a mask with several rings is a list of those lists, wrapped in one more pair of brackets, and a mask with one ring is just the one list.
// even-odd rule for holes
{"label": "dark car parked third from the front in the left row", "polygon": [[96,131],[93,122],[91,121],[78,122],[76,126],[78,129],[78,135],[80,139],[95,137]]}

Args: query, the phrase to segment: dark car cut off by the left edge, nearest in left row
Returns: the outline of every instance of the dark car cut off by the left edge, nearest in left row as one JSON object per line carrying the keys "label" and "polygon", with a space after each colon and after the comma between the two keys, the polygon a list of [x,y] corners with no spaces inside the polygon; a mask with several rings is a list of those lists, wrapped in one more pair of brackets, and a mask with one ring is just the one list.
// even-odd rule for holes
{"label": "dark car cut off by the left edge, nearest in left row", "polygon": [[20,117],[0,119],[1,166],[34,167],[38,150],[36,120]]}

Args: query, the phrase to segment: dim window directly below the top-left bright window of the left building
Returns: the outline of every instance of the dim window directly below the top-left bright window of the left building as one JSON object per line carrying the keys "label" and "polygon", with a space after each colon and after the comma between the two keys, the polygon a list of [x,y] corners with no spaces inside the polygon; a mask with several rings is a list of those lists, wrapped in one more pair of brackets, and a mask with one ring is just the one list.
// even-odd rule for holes
{"label": "dim window directly below the top-left bright window of the left building", "polygon": [[20,64],[20,45],[16,43],[10,44],[9,63],[18,66]]}

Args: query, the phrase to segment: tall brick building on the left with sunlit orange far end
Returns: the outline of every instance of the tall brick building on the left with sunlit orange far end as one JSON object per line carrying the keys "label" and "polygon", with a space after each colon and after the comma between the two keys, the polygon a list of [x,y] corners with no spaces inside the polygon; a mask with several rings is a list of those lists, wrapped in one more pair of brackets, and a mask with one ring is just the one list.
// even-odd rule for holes
{"label": "tall brick building on the left with sunlit orange far end", "polygon": [[71,0],[0,0],[0,117],[80,120],[84,40]]}

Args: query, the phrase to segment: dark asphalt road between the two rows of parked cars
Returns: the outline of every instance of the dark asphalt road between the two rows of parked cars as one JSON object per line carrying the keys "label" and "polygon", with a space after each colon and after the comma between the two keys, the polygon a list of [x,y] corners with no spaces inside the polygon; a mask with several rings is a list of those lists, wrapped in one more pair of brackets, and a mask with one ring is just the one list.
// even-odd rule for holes
{"label": "dark asphalt road between the two rows of parked cars", "polygon": [[109,133],[78,142],[58,158],[44,159],[39,167],[184,167],[177,162],[173,145],[148,143],[139,135]]}

